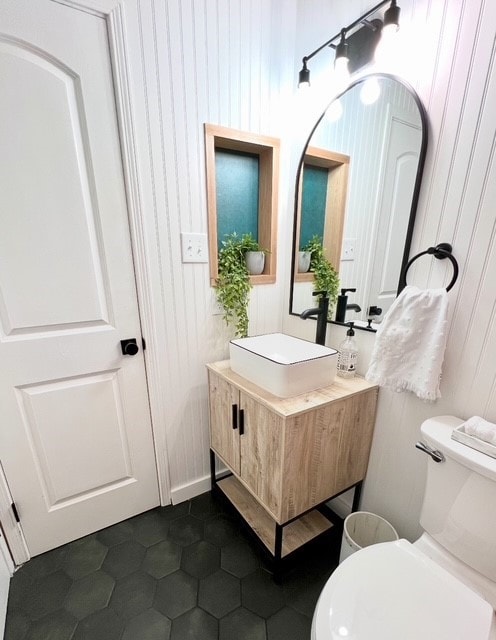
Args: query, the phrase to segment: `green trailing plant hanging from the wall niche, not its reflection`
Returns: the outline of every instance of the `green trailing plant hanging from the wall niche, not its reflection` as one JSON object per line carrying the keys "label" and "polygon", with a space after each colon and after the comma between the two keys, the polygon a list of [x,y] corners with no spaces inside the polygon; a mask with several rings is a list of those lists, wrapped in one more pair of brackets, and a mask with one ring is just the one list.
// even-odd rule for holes
{"label": "green trailing plant hanging from the wall niche, not its reflection", "polygon": [[217,302],[224,311],[223,318],[226,324],[234,325],[238,338],[248,335],[248,301],[252,285],[245,260],[247,251],[264,251],[251,233],[238,236],[234,232],[224,236],[214,285]]}

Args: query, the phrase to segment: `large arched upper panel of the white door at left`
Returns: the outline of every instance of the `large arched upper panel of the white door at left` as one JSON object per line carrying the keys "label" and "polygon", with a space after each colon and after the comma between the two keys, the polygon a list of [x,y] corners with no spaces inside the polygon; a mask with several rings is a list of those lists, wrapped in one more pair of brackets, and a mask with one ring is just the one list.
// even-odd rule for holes
{"label": "large arched upper panel of the white door at left", "polygon": [[[2,85],[15,87],[0,101],[1,122],[15,114],[15,126],[0,129],[3,198],[12,203],[11,231],[0,239],[3,331],[107,320],[81,85],[21,43],[1,43],[0,57]],[[30,256],[39,257],[36,269]]]}

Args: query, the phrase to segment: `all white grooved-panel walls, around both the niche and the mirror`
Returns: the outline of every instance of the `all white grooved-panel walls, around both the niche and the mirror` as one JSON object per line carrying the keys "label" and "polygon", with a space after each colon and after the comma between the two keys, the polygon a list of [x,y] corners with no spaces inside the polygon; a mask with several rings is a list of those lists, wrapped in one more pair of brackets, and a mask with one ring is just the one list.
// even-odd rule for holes
{"label": "all white grooved-panel walls, around both the niche and the mirror", "polygon": [[[284,327],[312,338],[314,322],[287,315],[293,177],[313,122],[293,96],[298,61],[373,3],[334,0],[332,10],[328,0],[124,3],[146,211],[143,242],[156,305],[149,357],[162,380],[157,444],[168,457],[172,493],[179,499],[208,487],[204,364],[226,357],[230,336],[212,315],[208,265],[183,265],[180,258],[180,232],[207,229],[203,122],[282,138],[278,280],[253,292],[250,332]],[[442,413],[496,420],[496,6],[483,0],[472,0],[470,7],[468,0],[400,4],[402,38],[415,52],[402,75],[417,89],[430,121],[412,251],[451,242],[461,268],[450,294],[442,400],[426,404],[409,394],[380,393],[363,507],[413,538],[426,463],[413,446],[421,421]],[[321,56],[312,66],[313,89],[319,71],[324,76],[330,64]],[[313,93],[314,118],[329,98],[324,93]],[[409,282],[438,286],[447,277],[443,264],[426,258],[416,263]],[[363,369],[372,337],[358,337]],[[341,330],[331,329],[330,343],[341,339]]]}

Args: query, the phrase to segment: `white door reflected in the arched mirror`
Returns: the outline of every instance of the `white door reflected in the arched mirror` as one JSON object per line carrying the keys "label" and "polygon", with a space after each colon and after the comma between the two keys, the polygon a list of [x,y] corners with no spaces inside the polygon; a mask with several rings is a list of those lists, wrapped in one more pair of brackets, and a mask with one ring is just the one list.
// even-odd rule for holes
{"label": "white door reflected in the arched mirror", "polygon": [[421,143],[419,119],[414,122],[407,114],[395,113],[390,119],[385,140],[377,241],[370,284],[373,293],[367,304],[367,310],[371,305],[380,307],[381,317],[392,305],[398,290]]}

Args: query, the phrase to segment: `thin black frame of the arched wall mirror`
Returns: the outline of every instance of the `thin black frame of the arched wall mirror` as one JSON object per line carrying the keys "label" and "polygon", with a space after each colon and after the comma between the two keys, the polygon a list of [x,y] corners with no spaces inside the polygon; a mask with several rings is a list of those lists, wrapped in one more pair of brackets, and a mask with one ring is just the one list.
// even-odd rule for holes
{"label": "thin black frame of the arched wall mirror", "polygon": [[[422,174],[424,172],[424,165],[425,165],[425,157],[426,157],[426,153],[427,153],[427,141],[428,141],[428,120],[427,120],[427,112],[424,108],[424,105],[422,104],[419,95],[417,94],[417,92],[415,91],[415,89],[406,81],[403,80],[402,78],[393,75],[393,74],[389,74],[389,73],[370,73],[364,76],[361,76],[360,78],[357,78],[356,80],[354,80],[346,89],[345,91],[342,91],[339,95],[337,95],[335,98],[333,98],[331,100],[331,102],[327,105],[327,107],[324,109],[324,112],[322,113],[322,115],[320,116],[320,118],[317,120],[317,122],[315,123],[314,127],[312,128],[312,130],[310,131],[310,134],[307,138],[307,141],[305,143],[305,146],[303,147],[303,151],[301,153],[300,156],[300,161],[298,163],[298,169],[296,171],[296,183],[295,183],[295,195],[294,195],[294,213],[293,213],[293,247],[292,247],[292,257],[291,257],[291,276],[290,276],[290,290],[289,290],[289,315],[292,316],[299,316],[299,313],[295,313],[292,309],[293,309],[293,287],[294,287],[294,272],[295,272],[295,261],[296,261],[296,255],[297,255],[297,251],[296,251],[296,234],[297,234],[297,229],[298,229],[298,225],[297,225],[297,215],[298,215],[298,199],[299,199],[299,188],[298,185],[300,184],[300,178],[301,178],[301,172],[303,170],[303,163],[304,163],[304,159],[305,159],[305,150],[307,149],[310,140],[312,139],[313,134],[315,133],[315,130],[317,129],[317,127],[319,126],[319,124],[321,123],[322,119],[324,118],[327,109],[329,108],[329,106],[335,101],[338,100],[339,98],[341,98],[341,96],[343,96],[345,93],[347,93],[350,89],[353,89],[354,87],[358,86],[359,84],[365,82],[365,80],[367,80],[368,78],[378,78],[378,79],[387,79],[387,80],[394,80],[396,82],[399,82],[400,84],[402,84],[411,94],[413,100],[415,101],[415,104],[417,105],[417,108],[419,110],[419,114],[420,114],[420,121],[421,121],[421,125],[422,125],[422,142],[420,145],[420,153],[419,153],[419,162],[418,162],[418,167],[417,167],[417,175],[415,176],[415,186],[413,189],[413,195],[412,195],[412,206],[410,207],[410,216],[408,219],[408,227],[407,227],[407,232],[406,232],[406,238],[405,238],[405,247],[403,250],[403,258],[401,261],[401,268],[400,268],[400,273],[398,274],[398,288],[397,288],[397,294],[399,294],[401,292],[401,290],[404,288],[404,283],[402,280],[402,273],[408,263],[408,258],[410,256],[410,247],[412,244],[412,236],[413,236],[413,228],[415,225],[415,217],[417,214],[417,206],[418,206],[418,200],[419,200],[419,195],[420,195],[420,185],[422,182]],[[336,320],[328,320],[328,322],[331,322],[332,324],[338,324],[338,325],[342,325],[342,322],[337,322]],[[368,328],[368,327],[360,327],[360,326],[356,326],[355,325],[355,329],[362,329],[364,331],[373,331],[375,332],[375,329],[372,328]]]}

